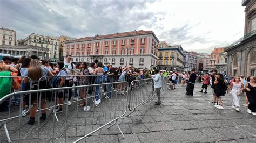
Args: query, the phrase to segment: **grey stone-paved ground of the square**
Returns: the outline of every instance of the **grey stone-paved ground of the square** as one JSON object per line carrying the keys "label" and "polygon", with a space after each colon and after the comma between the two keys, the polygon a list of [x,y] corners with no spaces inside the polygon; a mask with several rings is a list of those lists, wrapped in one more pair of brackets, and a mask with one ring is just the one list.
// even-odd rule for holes
{"label": "grey stone-paved ground of the square", "polygon": [[[153,105],[156,99],[137,108],[137,112],[142,117],[139,119],[132,113],[129,117],[122,117],[118,120],[119,126],[124,133],[125,139],[120,134],[117,126],[109,129],[106,127],[93,133],[86,138],[87,142],[194,142],[194,141],[238,141],[256,142],[256,116],[247,113],[247,108],[242,106],[245,103],[244,97],[240,100],[240,112],[231,108],[232,97],[226,94],[224,99],[224,110],[214,108],[212,103],[211,90],[207,94],[198,92],[201,84],[196,84],[194,96],[186,96],[186,88],[177,85],[175,90],[165,89],[161,92],[161,105]],[[101,103],[102,104],[102,103]],[[73,106],[73,105],[72,105]],[[68,117],[68,129],[66,132],[66,142],[75,140],[76,128],[73,125],[75,118],[70,110]],[[127,112],[129,113],[129,112]],[[127,114],[126,113],[126,114]],[[2,114],[2,115],[1,115]],[[0,112],[0,118],[4,113]],[[79,118],[84,119],[80,115]],[[24,117],[28,119],[29,117]],[[73,119],[73,121],[72,121]],[[39,142],[64,142],[65,128],[60,118],[60,124],[55,125],[54,138],[52,138],[52,122],[45,121],[40,125],[41,134]],[[25,120],[24,120],[25,121]],[[81,121],[82,122],[82,121]],[[97,121],[96,121],[97,122]],[[65,123],[64,123],[65,124]],[[92,121],[93,124],[93,121]],[[13,142],[18,139],[18,119],[8,123],[8,130]],[[21,142],[35,142],[37,126],[28,126],[22,123]],[[84,132],[83,122],[77,126],[78,136]],[[34,132],[33,132],[34,131]],[[0,142],[6,142],[3,127],[0,130]],[[83,140],[84,142],[84,140]]]}

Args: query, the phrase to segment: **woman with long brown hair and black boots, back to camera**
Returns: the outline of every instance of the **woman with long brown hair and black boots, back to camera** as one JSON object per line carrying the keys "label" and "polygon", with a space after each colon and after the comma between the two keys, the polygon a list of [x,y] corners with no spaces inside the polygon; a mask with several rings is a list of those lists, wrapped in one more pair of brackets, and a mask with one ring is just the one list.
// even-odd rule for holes
{"label": "woman with long brown hair and black boots, back to camera", "polygon": [[[30,62],[29,68],[25,71],[24,76],[28,76],[31,78],[32,81],[29,81],[29,78],[24,78],[24,83],[32,82],[33,88],[35,89],[46,89],[46,78],[42,78],[41,81],[38,81],[43,76],[53,76],[51,71],[45,67],[42,67],[41,63],[38,60],[32,60]],[[39,88],[38,88],[39,82]],[[37,95],[41,95],[41,109],[45,109],[45,95],[46,92],[42,92],[42,94],[33,93],[31,94],[31,110],[30,110],[30,119],[27,122],[29,125],[33,125],[35,123],[35,116],[37,110]],[[24,98],[29,98],[29,94],[26,95]],[[41,120],[46,119],[46,111],[42,110],[42,116],[40,117]]]}

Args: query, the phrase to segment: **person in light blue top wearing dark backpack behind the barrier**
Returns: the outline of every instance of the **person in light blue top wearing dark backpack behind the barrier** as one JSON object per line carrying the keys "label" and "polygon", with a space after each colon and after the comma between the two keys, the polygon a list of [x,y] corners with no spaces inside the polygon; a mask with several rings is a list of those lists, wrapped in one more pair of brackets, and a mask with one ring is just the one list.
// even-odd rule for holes
{"label": "person in light blue top wearing dark backpack behind the barrier", "polygon": [[[65,76],[68,74],[66,72],[66,69],[64,68],[64,62],[62,62],[62,61],[57,62],[57,67],[60,70],[59,70],[58,75],[53,77],[53,80],[52,80],[52,87],[53,88],[64,87],[65,78],[66,78]],[[64,103],[63,97],[65,96],[65,92],[64,92],[64,90],[58,90],[57,92],[58,92],[57,95],[58,95],[58,99],[59,99],[59,106],[56,106],[55,113],[60,113],[60,112],[63,112],[62,104]],[[55,101],[56,101],[55,105],[57,105],[57,99],[55,99]],[[48,111],[52,111],[52,110],[53,109],[50,108]]]}

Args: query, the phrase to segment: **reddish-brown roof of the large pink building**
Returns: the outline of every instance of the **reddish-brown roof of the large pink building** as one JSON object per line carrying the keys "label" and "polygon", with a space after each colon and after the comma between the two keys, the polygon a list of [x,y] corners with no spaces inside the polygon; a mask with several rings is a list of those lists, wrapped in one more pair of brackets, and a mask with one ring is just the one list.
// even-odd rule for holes
{"label": "reddish-brown roof of the large pink building", "polygon": [[[131,36],[131,35],[151,34],[151,33],[154,35],[153,31],[143,31],[143,30],[139,30],[139,31],[134,30],[134,31],[130,31],[130,32],[114,33],[114,34],[106,34],[106,35],[97,34],[93,37],[80,38],[80,39],[76,39],[76,40],[72,40],[72,41],[67,41],[66,43],[79,42],[79,41],[90,41],[90,40],[97,40],[97,39],[109,39],[109,38],[117,38],[117,37],[126,37],[126,36]],[[156,37],[156,35],[154,35],[154,36]],[[157,39],[157,37],[156,37],[156,39]]]}

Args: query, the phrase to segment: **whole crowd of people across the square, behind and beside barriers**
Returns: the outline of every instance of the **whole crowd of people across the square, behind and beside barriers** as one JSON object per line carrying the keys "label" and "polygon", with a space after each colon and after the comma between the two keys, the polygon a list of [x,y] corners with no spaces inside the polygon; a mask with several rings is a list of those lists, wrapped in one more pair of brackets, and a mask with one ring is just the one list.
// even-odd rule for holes
{"label": "whole crowd of people across the square, behind and beside barriers", "polygon": [[[256,115],[256,79],[252,76],[248,77],[246,80],[243,75],[240,77],[224,77],[223,74],[218,73],[217,70],[212,70],[211,74],[206,73],[198,75],[194,69],[190,72],[178,73],[176,71],[159,71],[156,68],[151,70],[147,68],[138,69],[132,66],[114,68],[110,63],[107,63],[104,66],[103,63],[98,60],[87,65],[86,62],[72,63],[71,55],[66,55],[64,62],[58,61],[57,63],[52,63],[47,60],[39,61],[35,55],[30,57],[22,56],[20,59],[15,60],[10,57],[4,57],[3,61],[0,62],[0,76],[4,76],[4,71],[11,71],[12,73],[17,73],[18,76],[29,77],[21,78],[20,88],[13,89],[13,91],[29,90],[31,88],[29,83],[32,84],[31,90],[36,90],[49,88],[49,83],[52,88],[61,88],[124,81],[127,81],[130,84],[134,80],[152,78],[154,81],[154,89],[158,97],[158,100],[155,103],[156,105],[160,105],[161,102],[160,89],[163,88],[162,77],[167,79],[167,84],[170,85],[173,90],[176,89],[177,83],[181,83],[182,87],[186,86],[187,96],[193,96],[196,81],[199,83],[203,81],[199,92],[207,94],[208,86],[211,87],[213,94],[213,101],[211,103],[213,103],[216,108],[224,109],[223,96],[225,96],[227,92],[230,92],[233,97],[232,108],[234,108],[235,111],[239,111],[239,99],[241,95],[244,95],[246,98],[246,103],[244,105],[248,106],[248,113]],[[49,76],[49,78],[45,76]],[[0,88],[3,88],[3,86],[4,85],[1,85]],[[117,85],[107,84],[104,86],[103,95],[105,98],[111,98],[111,91],[113,89],[117,90],[117,94],[124,95],[125,88],[125,84],[123,83]],[[54,103],[56,104],[56,109],[49,109],[49,111],[54,111],[56,113],[62,112],[62,104],[66,102],[68,105],[71,105],[72,97],[73,100],[81,99],[78,106],[83,107],[84,111],[88,111],[90,110],[90,106],[86,104],[86,96],[90,94],[95,96],[96,106],[100,104],[102,98],[100,97],[100,86],[98,85],[95,88],[84,87],[80,89],[73,88],[66,91],[59,90],[55,99],[56,103]],[[46,108],[46,98],[48,98],[48,95],[47,92],[42,93],[41,109]],[[19,96],[20,95],[16,95],[14,97],[13,100],[15,104],[19,104]],[[37,98],[36,93],[32,94],[31,99],[29,98],[29,95],[24,95],[22,102],[22,116],[26,116],[26,105],[28,105],[29,102],[31,102],[31,104],[36,104],[38,102]],[[6,104],[2,103],[1,110],[7,109],[8,103],[9,102],[6,102]],[[28,121],[29,125],[35,123],[36,112],[37,106],[32,106],[30,109],[30,120]],[[45,110],[42,110],[40,119],[46,119]]]}

